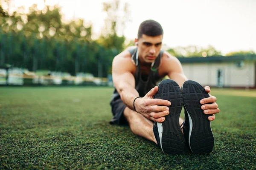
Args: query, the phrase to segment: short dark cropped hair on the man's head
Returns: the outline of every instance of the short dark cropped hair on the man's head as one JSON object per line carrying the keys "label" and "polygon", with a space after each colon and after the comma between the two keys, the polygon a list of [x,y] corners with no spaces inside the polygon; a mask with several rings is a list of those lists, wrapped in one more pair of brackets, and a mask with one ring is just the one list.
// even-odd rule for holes
{"label": "short dark cropped hair on the man's head", "polygon": [[138,31],[138,39],[142,37],[142,34],[147,36],[158,36],[163,35],[163,28],[160,23],[154,20],[145,20],[140,24],[139,31]]}

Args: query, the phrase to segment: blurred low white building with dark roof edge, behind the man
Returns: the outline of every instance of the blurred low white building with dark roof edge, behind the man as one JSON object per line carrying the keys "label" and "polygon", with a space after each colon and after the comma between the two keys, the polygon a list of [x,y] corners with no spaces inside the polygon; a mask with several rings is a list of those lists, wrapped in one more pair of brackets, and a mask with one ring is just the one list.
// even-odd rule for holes
{"label": "blurred low white building with dark roof edge, behind the man", "polygon": [[210,87],[256,88],[256,56],[178,57],[186,77]]}

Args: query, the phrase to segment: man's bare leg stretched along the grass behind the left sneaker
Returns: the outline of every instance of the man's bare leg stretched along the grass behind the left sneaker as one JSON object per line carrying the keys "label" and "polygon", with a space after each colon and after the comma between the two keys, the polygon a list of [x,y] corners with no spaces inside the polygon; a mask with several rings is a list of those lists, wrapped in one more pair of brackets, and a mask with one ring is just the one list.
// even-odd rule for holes
{"label": "man's bare leg stretched along the grass behind the left sneaker", "polygon": [[127,107],[124,110],[124,116],[130,125],[131,131],[135,135],[142,136],[145,139],[157,143],[153,133],[154,123],[151,122],[151,120],[148,120],[140,113],[132,111]]}

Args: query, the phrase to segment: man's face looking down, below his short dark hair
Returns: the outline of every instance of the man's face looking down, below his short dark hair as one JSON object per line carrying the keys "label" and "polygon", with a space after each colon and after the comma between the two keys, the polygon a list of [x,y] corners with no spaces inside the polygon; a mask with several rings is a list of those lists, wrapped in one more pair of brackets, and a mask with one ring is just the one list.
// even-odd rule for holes
{"label": "man's face looking down, below his short dark hair", "polygon": [[139,40],[135,39],[135,42],[138,42],[137,46],[140,61],[144,63],[152,63],[160,53],[162,40],[163,35],[150,37],[145,34],[143,34]]}

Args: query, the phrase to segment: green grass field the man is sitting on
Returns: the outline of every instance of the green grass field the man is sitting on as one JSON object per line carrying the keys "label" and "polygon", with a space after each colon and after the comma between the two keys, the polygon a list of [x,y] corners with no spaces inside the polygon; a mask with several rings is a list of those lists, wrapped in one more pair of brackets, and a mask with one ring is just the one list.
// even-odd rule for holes
{"label": "green grass field the man is sitting on", "polygon": [[212,89],[221,112],[205,155],[166,155],[129,127],[110,125],[112,92],[1,87],[0,169],[256,169],[255,90]]}

